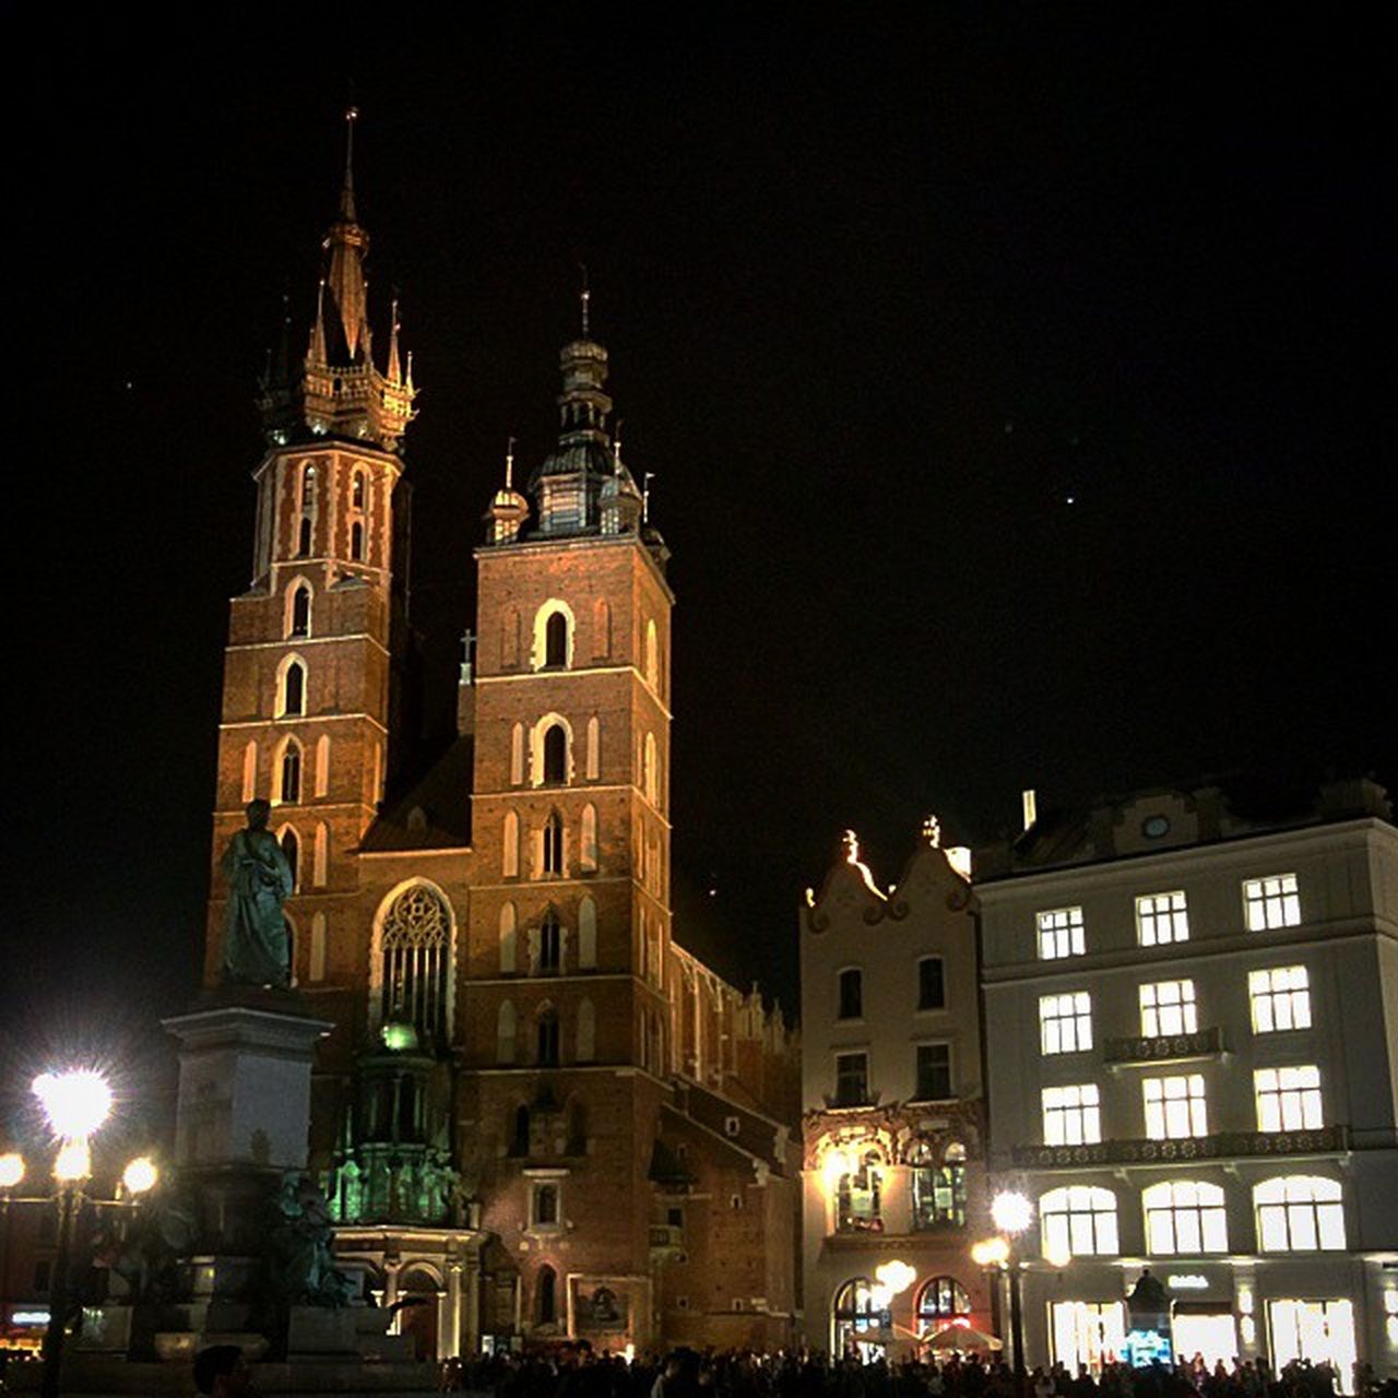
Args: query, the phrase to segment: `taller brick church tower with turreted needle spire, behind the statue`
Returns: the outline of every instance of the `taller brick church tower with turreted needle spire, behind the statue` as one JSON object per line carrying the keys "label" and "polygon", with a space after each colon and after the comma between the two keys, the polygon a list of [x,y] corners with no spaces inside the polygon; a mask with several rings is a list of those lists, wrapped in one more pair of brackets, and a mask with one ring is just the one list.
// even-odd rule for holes
{"label": "taller brick church tower with turreted needle spire, behind the statue", "polygon": [[[324,976],[334,923],[350,916],[358,847],[384,791],[394,644],[394,502],[412,366],[394,305],[386,368],[373,359],[355,217],[354,120],[340,212],[299,373],[284,343],[261,384],[267,454],[253,471],[253,577],[231,603],[218,730],[214,858],[254,795],[296,875],[288,905],[292,974]],[[222,885],[215,874],[207,976],[217,979]],[[317,974],[319,972],[319,974]]]}

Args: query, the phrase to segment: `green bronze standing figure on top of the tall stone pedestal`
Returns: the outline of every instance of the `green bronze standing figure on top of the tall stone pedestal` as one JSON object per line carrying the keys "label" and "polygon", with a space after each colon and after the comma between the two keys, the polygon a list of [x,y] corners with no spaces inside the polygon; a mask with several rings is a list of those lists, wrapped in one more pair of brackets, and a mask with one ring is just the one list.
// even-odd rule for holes
{"label": "green bronze standing figure on top of the tall stone pedestal", "polygon": [[291,938],[281,905],[295,879],[277,836],[267,829],[271,805],[247,802],[247,829],[224,850],[228,877],[224,913],[224,981],[236,986],[289,986]]}

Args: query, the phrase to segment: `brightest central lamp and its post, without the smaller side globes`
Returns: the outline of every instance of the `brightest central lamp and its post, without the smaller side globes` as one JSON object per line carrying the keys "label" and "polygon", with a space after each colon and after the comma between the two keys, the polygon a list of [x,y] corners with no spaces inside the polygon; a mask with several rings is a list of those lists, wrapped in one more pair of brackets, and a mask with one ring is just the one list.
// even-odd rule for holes
{"label": "brightest central lamp and its post, without the smaller side globes", "polygon": [[41,1072],[34,1079],[34,1095],[43,1106],[49,1128],[60,1141],[53,1162],[53,1179],[59,1184],[57,1257],[49,1286],[49,1325],[43,1332],[43,1378],[39,1383],[41,1398],[59,1398],[69,1323],[73,1230],[82,1208],[82,1184],[92,1173],[88,1137],[110,1114],[112,1089],[99,1072],[74,1068],[70,1072]]}

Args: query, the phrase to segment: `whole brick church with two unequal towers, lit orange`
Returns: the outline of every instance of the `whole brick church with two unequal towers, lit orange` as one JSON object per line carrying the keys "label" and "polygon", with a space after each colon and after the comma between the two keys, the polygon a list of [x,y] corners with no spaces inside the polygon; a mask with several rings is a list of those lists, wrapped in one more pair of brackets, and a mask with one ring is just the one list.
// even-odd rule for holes
{"label": "whole brick church with two unequal towers, lit orange", "polygon": [[207,979],[217,856],[264,797],[295,870],[292,980],[336,1026],[312,1167],[341,1257],[405,1303],[424,1353],[784,1343],[798,1051],[672,925],[668,552],[608,426],[586,295],[558,445],[523,489],[510,460],[485,510],[457,735],[415,765],[415,384],[396,308],[375,351],[368,245],[347,164],[305,358],[263,384]]}

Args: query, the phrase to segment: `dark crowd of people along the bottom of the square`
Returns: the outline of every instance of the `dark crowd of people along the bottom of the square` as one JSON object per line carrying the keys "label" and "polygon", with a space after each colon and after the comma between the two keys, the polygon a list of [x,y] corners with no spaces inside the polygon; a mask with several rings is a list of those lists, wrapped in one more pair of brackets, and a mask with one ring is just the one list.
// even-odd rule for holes
{"label": "dark crowd of people along the bottom of the square", "polygon": [[1342,1384],[1327,1363],[1295,1360],[1274,1371],[1264,1360],[1209,1366],[1202,1356],[1141,1369],[1111,1362],[1097,1373],[1061,1363],[1016,1371],[998,1356],[864,1362],[804,1350],[675,1350],[628,1362],[580,1343],[452,1359],[442,1390],[493,1398],[1398,1398],[1398,1377],[1380,1380],[1369,1364],[1348,1377]]}

